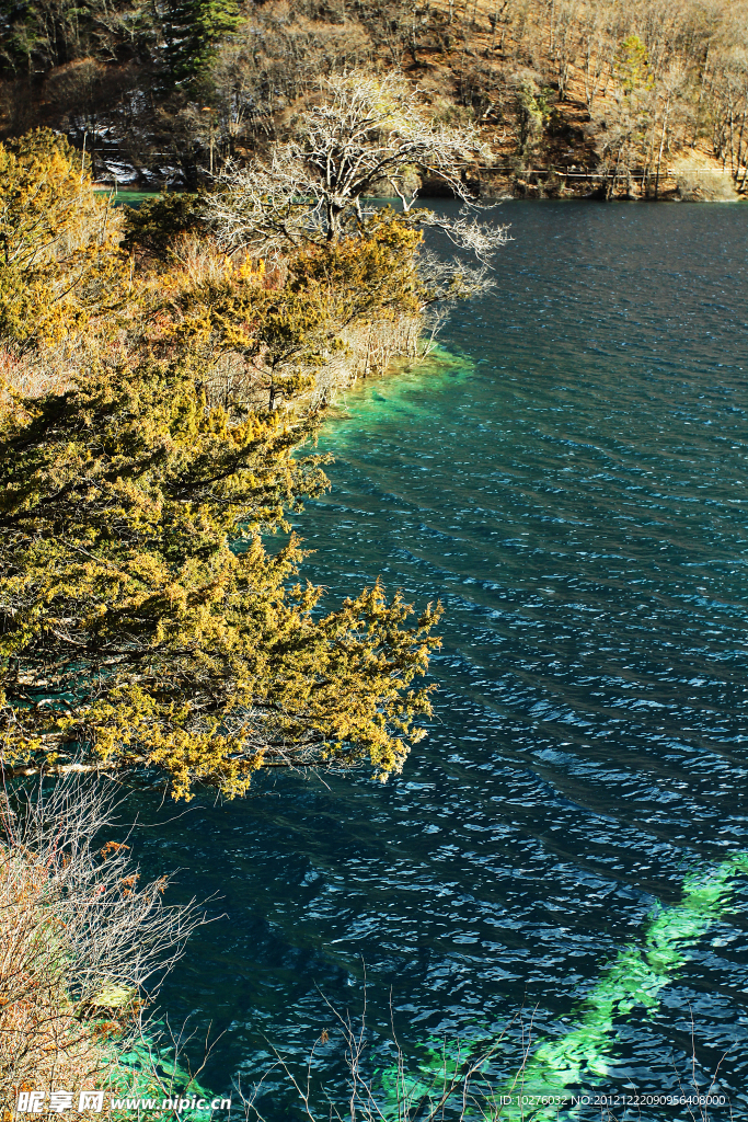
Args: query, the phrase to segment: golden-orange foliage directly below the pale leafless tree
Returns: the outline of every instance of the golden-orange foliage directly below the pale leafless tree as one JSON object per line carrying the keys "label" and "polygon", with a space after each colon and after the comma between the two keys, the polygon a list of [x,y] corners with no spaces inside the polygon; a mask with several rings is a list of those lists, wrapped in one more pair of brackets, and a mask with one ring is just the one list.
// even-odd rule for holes
{"label": "golden-orange foliage directly below the pale leafless tree", "polygon": [[421,241],[419,230],[386,209],[344,241],[295,251],[278,284],[261,259],[225,257],[205,240],[177,238],[173,268],[159,272],[154,286],[151,320],[163,324],[154,346],[205,367],[240,356],[256,399],[275,408],[308,389],[314,371],[345,350],[345,329],[419,315],[427,298],[415,267]]}

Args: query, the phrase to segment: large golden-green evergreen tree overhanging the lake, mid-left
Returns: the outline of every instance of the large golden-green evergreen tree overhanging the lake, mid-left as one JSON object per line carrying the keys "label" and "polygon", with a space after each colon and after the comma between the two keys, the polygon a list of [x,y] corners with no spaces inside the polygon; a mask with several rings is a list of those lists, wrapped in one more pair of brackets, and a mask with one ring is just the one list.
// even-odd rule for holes
{"label": "large golden-green evergreen tree overhanging the lake, mid-left", "polygon": [[233,795],[273,764],[397,771],[437,611],[379,585],[326,615],[295,581],[310,420],[232,421],[187,364],[80,379],[0,416],[0,761],[6,776],[157,771]]}

